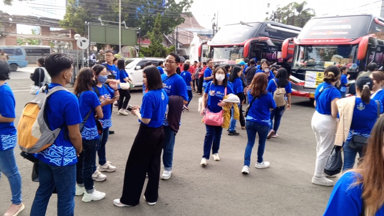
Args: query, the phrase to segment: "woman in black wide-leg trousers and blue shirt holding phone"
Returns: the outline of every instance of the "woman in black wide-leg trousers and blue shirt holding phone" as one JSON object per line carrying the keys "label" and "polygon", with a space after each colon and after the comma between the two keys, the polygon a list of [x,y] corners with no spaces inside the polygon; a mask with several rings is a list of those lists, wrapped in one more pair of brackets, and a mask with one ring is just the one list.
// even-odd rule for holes
{"label": "woman in black wide-leg trousers and blue shirt holding phone", "polygon": [[160,158],[165,138],[163,120],[167,113],[168,96],[162,88],[156,66],[144,68],[143,83],[148,91],[142,98],[141,107],[128,107],[141,124],[128,156],[122,196],[113,201],[118,207],[139,204],[146,173],[148,183],[144,199],[149,205],[154,205],[159,196]]}

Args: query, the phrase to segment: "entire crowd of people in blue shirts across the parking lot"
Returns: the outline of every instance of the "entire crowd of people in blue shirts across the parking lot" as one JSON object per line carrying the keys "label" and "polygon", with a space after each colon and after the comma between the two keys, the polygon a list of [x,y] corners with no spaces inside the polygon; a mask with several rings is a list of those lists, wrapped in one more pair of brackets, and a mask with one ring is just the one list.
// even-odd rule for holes
{"label": "entire crowd of people in blue shirts across the parking lot", "polygon": [[[45,215],[52,193],[58,194],[57,211],[63,216],[74,215],[74,196],[83,196],[84,202],[105,198],[106,193],[94,189],[93,181],[104,181],[107,176],[101,172],[116,170],[106,153],[115,101],[118,101],[118,115],[131,113],[140,123],[127,159],[122,195],[114,199],[115,206],[139,204],[146,177],[144,199],[149,205],[156,204],[159,179],[172,176],[175,138],[181,115],[189,110],[193,91],[202,95],[199,111],[206,128],[200,165],[207,166],[211,154],[214,161],[220,160],[222,130],[227,129],[230,136],[239,135],[235,130],[239,120],[248,137],[241,173],[250,172],[257,135],[255,168],[270,166],[263,158],[266,140],[279,136],[283,113],[291,108],[291,84],[285,68],[273,65],[270,68],[265,59],[258,62],[244,59],[235,66],[214,65],[211,59],[180,64],[179,56],[170,53],[158,67],[151,63],[144,67],[143,97],[138,106],[129,105],[129,89],[121,88],[122,83],[132,84],[124,70],[124,60],[116,59],[111,50],[105,53],[105,63],[79,71],[73,93],[57,91],[46,99],[49,127],[53,130],[64,125],[66,130],[60,131],[52,145],[35,154],[40,181],[30,215]],[[35,85],[41,87],[38,94],[49,91],[43,90],[44,71],[50,77],[49,89],[66,86],[71,81],[72,64],[71,58],[61,53],[39,59],[39,68],[31,75]],[[324,168],[335,146],[344,150],[345,173],[334,187],[324,215],[341,215],[346,208],[348,215],[384,213],[379,179],[384,172],[384,117],[377,120],[383,113],[384,73],[376,69],[358,75],[355,96],[344,98],[343,87],[349,77],[346,68],[334,65],[324,70],[324,82],[316,89],[311,120],[317,143],[313,184],[333,186],[334,181],[329,178],[335,176],[326,176]],[[7,62],[0,60],[0,94],[4,102],[0,105],[0,171],[9,179],[12,191],[12,204],[5,216],[16,216],[25,208],[13,150],[17,133],[22,131],[17,131],[13,124],[15,98],[6,83],[8,79]],[[248,104],[246,111],[245,104]],[[358,169],[352,169],[357,153],[361,162]]]}

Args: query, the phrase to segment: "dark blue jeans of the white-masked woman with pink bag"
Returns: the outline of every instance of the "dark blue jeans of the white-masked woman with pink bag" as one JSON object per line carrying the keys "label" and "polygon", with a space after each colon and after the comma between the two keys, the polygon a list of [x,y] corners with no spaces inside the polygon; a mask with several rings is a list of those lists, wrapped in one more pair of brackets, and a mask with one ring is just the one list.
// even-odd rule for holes
{"label": "dark blue jeans of the white-masked woman with pink bag", "polygon": [[207,129],[207,133],[205,134],[205,139],[204,139],[203,158],[206,158],[207,160],[209,160],[211,147],[212,147],[212,154],[218,153],[218,149],[220,148],[220,139],[221,139],[221,133],[223,132],[223,128],[221,126],[210,126],[210,125],[205,125],[205,128]]}

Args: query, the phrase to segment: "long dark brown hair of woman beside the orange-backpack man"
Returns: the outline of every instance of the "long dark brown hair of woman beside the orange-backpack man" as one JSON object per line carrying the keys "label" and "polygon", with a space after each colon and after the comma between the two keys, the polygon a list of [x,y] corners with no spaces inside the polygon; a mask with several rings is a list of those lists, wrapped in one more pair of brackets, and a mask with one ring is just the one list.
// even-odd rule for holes
{"label": "long dark brown hair of woman beside the orange-backpack man", "polygon": [[83,91],[91,91],[94,71],[91,68],[81,68],[73,86],[73,93],[78,97]]}

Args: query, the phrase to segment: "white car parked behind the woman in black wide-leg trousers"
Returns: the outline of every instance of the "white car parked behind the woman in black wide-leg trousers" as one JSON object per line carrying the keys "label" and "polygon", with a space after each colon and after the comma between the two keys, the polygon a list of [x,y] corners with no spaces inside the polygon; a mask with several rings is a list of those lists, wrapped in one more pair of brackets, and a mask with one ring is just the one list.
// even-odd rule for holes
{"label": "white car parked behind the woman in black wide-leg trousers", "polygon": [[129,78],[132,80],[135,88],[143,85],[143,68],[148,61],[152,61],[154,66],[158,66],[159,61],[165,61],[165,58],[127,58],[125,60],[125,70],[128,73]]}

